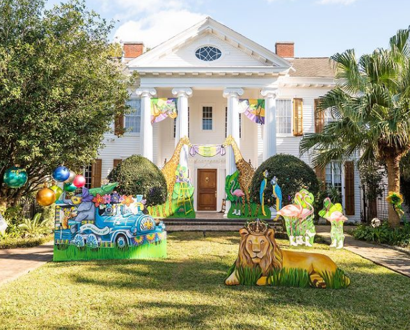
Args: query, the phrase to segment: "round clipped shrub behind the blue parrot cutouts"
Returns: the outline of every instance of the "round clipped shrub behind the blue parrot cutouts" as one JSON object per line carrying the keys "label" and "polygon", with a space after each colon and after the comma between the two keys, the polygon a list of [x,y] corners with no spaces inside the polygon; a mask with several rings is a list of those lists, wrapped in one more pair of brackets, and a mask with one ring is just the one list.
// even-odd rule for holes
{"label": "round clipped shrub behind the blue parrot cutouts", "polygon": [[276,206],[275,198],[271,196],[271,179],[276,176],[278,185],[282,190],[282,205],[292,203],[294,195],[301,189],[308,189],[313,196],[320,190],[319,180],[315,171],[301,159],[292,155],[278,154],[265,160],[252,178],[251,198],[260,203],[260,184],[264,179],[263,173],[267,171],[267,186],[265,187],[265,205]]}

